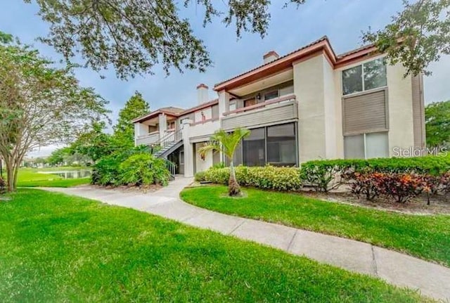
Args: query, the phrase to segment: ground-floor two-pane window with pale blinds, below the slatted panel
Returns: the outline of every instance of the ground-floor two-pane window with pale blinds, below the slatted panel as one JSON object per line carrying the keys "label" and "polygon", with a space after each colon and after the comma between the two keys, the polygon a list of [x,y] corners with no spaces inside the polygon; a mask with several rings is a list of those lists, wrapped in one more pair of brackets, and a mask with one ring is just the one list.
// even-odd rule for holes
{"label": "ground-floor two-pane window with pale blinds, below the slatted panel", "polygon": [[344,153],[346,159],[388,157],[388,146],[387,132],[344,137]]}

